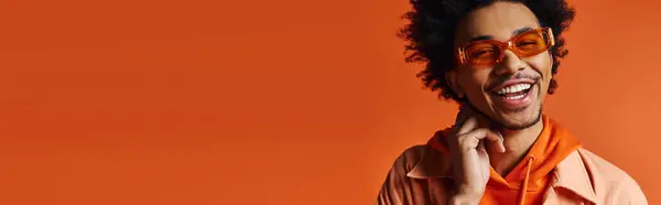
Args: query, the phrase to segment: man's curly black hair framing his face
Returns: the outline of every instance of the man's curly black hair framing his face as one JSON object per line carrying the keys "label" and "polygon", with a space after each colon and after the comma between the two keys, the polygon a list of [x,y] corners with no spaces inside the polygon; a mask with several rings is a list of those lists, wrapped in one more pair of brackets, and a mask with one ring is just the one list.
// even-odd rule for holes
{"label": "man's curly black hair framing his face", "polygon": [[[489,6],[499,0],[410,0],[413,9],[403,19],[409,23],[397,35],[407,42],[407,63],[424,63],[423,71],[416,77],[425,87],[438,91],[438,97],[459,100],[449,88],[445,74],[457,66],[454,40],[457,22],[470,11]],[[502,1],[502,0],[500,0]],[[528,7],[542,26],[550,26],[555,36],[555,45],[550,48],[553,56],[552,76],[557,73],[560,60],[568,54],[564,48],[565,40],[561,35],[574,20],[575,10],[565,0],[507,0]],[[552,77],[549,94],[557,88]]]}

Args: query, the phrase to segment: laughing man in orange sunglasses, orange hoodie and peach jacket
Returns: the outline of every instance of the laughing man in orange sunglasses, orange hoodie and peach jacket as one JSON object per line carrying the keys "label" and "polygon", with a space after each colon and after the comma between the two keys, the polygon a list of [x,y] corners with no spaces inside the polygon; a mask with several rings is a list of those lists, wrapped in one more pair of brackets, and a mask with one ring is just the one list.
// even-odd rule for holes
{"label": "laughing man in orange sunglasses, orange hoodie and peach jacket", "polygon": [[627,173],[542,114],[574,18],[564,0],[411,0],[409,62],[460,106],[394,162],[377,204],[644,205]]}

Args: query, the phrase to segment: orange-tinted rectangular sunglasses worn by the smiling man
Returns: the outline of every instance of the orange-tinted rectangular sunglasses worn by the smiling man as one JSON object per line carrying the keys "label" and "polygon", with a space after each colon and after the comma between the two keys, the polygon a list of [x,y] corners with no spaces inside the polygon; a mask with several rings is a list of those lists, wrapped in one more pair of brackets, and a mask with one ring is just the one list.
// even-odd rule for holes
{"label": "orange-tinted rectangular sunglasses worn by the smiling man", "polygon": [[489,66],[502,61],[505,51],[510,50],[519,57],[530,57],[553,46],[555,41],[551,28],[540,28],[512,36],[507,42],[480,40],[460,46],[457,61],[462,65]]}

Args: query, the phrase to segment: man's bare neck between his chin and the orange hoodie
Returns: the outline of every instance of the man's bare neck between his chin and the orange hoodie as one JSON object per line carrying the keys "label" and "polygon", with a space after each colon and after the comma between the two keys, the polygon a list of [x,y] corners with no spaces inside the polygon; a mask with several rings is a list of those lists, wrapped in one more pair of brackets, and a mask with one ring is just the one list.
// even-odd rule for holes
{"label": "man's bare neck between his chin and the orange hoodie", "polygon": [[543,120],[539,120],[530,128],[522,130],[500,130],[505,139],[505,153],[496,151],[495,144],[487,147],[489,162],[494,170],[506,176],[528,153],[532,144],[544,129]]}

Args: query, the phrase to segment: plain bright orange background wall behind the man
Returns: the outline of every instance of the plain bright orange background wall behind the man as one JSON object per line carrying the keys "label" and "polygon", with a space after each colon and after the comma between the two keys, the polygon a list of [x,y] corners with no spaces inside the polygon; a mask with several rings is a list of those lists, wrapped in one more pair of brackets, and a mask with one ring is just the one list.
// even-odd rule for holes
{"label": "plain bright orange background wall behind the man", "polygon": [[[661,203],[659,1],[571,1],[546,111]],[[404,0],[0,1],[0,204],[373,204],[453,121]]]}

